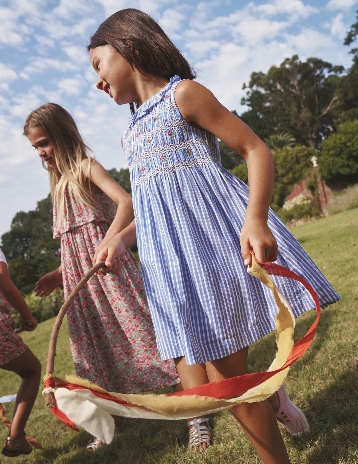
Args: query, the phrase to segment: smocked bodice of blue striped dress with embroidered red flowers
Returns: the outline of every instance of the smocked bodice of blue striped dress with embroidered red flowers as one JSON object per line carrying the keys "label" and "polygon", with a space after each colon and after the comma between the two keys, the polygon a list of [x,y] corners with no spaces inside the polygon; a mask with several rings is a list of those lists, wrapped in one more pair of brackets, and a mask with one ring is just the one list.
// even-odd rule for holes
{"label": "smocked bodice of blue striped dress with embroidered red flowers", "polygon": [[174,99],[180,81],[179,76],[172,77],[129,120],[123,147],[132,188],[163,173],[212,161],[221,165],[216,136],[190,126],[180,114]]}

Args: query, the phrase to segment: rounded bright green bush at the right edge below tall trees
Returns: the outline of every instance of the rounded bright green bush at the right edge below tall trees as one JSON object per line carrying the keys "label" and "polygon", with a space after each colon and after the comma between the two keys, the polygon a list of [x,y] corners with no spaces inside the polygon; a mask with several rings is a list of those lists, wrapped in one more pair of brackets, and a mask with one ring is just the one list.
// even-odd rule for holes
{"label": "rounded bright green bush at the right edge below tall trees", "polygon": [[358,120],[340,124],[322,141],[318,169],[327,184],[358,182]]}

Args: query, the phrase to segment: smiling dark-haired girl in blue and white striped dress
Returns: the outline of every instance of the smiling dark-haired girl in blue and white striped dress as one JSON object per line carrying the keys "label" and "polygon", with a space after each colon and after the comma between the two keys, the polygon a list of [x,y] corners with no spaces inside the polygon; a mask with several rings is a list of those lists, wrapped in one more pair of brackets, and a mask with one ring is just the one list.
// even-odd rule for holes
{"label": "smiling dark-haired girl in blue and white striped dress", "polygon": [[[322,307],[339,299],[269,210],[272,155],[192,80],[185,58],[147,14],[114,13],[88,49],[97,88],[132,110],[123,148],[135,221],[101,246],[97,262],[116,268],[137,240],[158,349],[162,359],[175,358],[185,389],[246,374],[248,345],[275,328],[270,290],[246,271],[251,249],[259,261],[277,260],[309,280]],[[217,138],[247,162],[250,193],[222,168]],[[295,316],[313,307],[300,284],[274,280]],[[231,412],[263,462],[290,462],[267,401]]]}

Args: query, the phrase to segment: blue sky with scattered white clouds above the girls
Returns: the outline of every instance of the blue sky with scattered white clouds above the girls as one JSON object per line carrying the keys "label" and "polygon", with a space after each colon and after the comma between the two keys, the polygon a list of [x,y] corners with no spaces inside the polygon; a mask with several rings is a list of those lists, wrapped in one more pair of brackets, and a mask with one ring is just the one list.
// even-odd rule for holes
{"label": "blue sky with scattered white clouds above the girls", "polygon": [[297,54],[342,64],[358,0],[0,0],[0,235],[18,211],[49,193],[48,174],[22,128],[28,113],[55,102],[75,118],[105,168],[122,168],[129,105],[95,88],[86,45],[107,16],[135,7],[151,14],[230,110],[240,114],[253,71]]}

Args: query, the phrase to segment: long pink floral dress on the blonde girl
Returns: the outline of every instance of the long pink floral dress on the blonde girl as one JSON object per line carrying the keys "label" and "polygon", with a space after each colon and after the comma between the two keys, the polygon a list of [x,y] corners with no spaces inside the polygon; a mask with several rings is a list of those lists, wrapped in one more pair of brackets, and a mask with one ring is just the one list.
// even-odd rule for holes
{"label": "long pink floral dress on the blonde girl", "polygon": [[[116,214],[116,205],[107,195],[92,196],[97,214],[77,202],[67,188],[61,226],[54,202],[54,238],[61,238],[65,298],[92,267],[95,249]],[[118,274],[91,277],[68,309],[67,320],[78,376],[119,393],[145,392],[179,382],[173,361],[160,360],[141,271],[129,250]]]}

